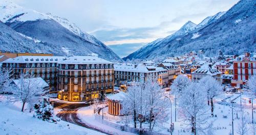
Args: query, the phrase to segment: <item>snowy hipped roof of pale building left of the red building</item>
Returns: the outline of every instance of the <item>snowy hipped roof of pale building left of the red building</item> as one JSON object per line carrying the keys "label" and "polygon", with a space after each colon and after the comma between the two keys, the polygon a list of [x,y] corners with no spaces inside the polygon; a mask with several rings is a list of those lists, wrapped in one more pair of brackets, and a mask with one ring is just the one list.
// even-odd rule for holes
{"label": "snowy hipped roof of pale building left of the red building", "polygon": [[197,70],[193,71],[192,74],[208,74],[208,75],[214,76],[217,74],[221,74],[221,72],[217,69],[211,68],[209,64],[204,64]]}

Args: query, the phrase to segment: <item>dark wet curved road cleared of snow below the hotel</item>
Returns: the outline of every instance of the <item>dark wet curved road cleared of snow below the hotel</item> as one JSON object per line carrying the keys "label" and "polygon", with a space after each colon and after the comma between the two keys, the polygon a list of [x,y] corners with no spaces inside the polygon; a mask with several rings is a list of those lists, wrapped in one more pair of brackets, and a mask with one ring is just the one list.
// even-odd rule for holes
{"label": "dark wet curved road cleared of snow below the hotel", "polygon": [[109,134],[107,132],[103,132],[101,130],[92,128],[86,124],[84,124],[77,116],[77,110],[81,107],[89,106],[89,103],[62,103],[62,102],[54,102],[54,107],[62,109],[56,116],[59,117],[63,121],[67,121],[82,127],[86,127],[95,131],[99,131],[105,134]]}

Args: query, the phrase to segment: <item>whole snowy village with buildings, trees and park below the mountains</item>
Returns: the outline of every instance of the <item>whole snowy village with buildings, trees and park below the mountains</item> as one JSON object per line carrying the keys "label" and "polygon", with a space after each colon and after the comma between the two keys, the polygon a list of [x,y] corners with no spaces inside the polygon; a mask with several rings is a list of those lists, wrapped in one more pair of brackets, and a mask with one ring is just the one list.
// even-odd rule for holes
{"label": "whole snowy village with buildings, trees and park below the mountains", "polygon": [[[255,53],[224,56],[219,50],[205,57],[203,51],[191,51],[122,63],[95,54],[1,55],[1,86],[7,86],[2,96],[15,95],[10,100],[22,101],[22,112],[44,97],[54,107],[53,116],[107,134],[255,133]],[[37,88],[34,95],[18,92],[29,87]]]}

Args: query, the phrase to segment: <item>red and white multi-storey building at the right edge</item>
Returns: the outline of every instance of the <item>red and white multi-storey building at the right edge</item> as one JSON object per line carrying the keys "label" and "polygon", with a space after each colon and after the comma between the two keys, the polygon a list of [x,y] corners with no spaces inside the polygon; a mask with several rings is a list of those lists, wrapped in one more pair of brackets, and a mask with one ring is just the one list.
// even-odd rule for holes
{"label": "red and white multi-storey building at the right edge", "polygon": [[256,53],[245,52],[233,60],[233,87],[243,88],[245,81],[256,73]]}

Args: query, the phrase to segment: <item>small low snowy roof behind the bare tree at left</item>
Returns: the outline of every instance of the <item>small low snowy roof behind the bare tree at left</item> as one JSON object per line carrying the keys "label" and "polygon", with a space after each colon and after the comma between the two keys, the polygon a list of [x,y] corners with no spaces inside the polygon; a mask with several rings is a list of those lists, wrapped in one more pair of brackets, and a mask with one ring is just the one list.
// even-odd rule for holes
{"label": "small low snowy roof behind the bare tree at left", "polygon": [[[35,83],[35,85],[36,85],[37,87],[45,88],[45,87],[48,87],[48,86],[49,86],[49,85],[45,82],[45,80],[42,79],[41,77],[30,78],[30,79],[31,79],[31,81],[30,81],[28,78],[24,79],[25,85],[26,85],[27,83],[29,83],[29,81],[30,81],[30,82]],[[13,80],[13,83],[14,83],[17,87],[20,88],[19,82],[20,82],[20,79],[14,79],[14,80]]]}

